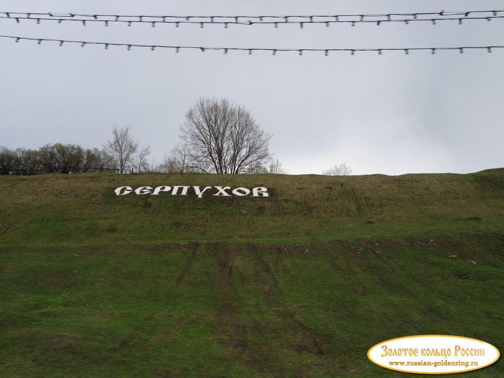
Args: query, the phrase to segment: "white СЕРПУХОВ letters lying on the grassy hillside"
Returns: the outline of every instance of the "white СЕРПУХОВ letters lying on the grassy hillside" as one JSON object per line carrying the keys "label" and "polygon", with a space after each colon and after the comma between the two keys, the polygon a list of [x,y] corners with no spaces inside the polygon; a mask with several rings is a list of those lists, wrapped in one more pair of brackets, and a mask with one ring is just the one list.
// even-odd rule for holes
{"label": "white \u0421\u0415\u0420\u041f\u0423\u0425\u041e\u0412 letters lying on the grassy hillside", "polygon": [[161,193],[170,193],[172,195],[180,196],[194,194],[198,198],[202,198],[204,194],[208,194],[209,196],[232,197],[234,195],[243,197],[252,193],[249,197],[269,197],[268,189],[263,186],[255,187],[252,190],[246,187],[237,187],[231,190],[231,186],[205,186],[203,189],[201,189],[201,186],[184,185],[162,185],[157,186],[154,189],[151,186],[139,186],[136,189],[133,189],[131,186],[119,186],[114,190],[114,192],[116,196],[125,196],[130,193],[135,193],[139,196],[159,196]]}

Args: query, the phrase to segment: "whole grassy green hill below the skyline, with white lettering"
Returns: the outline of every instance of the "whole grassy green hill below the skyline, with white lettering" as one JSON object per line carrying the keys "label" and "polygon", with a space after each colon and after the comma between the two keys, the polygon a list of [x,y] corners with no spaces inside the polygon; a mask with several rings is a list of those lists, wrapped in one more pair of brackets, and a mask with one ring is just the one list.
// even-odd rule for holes
{"label": "whole grassy green hill below the skyline, with white lettering", "polygon": [[504,169],[0,176],[0,377],[409,376],[366,353],[421,334],[502,351],[503,220]]}

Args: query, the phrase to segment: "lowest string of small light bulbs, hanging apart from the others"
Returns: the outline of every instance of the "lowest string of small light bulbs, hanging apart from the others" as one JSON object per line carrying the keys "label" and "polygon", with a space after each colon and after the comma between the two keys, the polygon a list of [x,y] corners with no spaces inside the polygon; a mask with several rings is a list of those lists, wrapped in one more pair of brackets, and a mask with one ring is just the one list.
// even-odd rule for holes
{"label": "lowest string of small light bulbs, hanging apart from the others", "polygon": [[224,51],[225,54],[227,54],[228,51],[248,51],[249,54],[252,54],[253,51],[269,51],[269,52],[272,52],[273,55],[276,55],[278,52],[289,52],[289,51],[298,52],[299,55],[302,55],[303,52],[305,52],[305,51],[318,51],[318,52],[324,52],[326,56],[329,55],[329,52],[335,52],[335,51],[346,51],[346,52],[350,52],[352,55],[354,55],[355,52],[360,52],[360,51],[375,51],[381,55],[384,51],[404,51],[406,54],[409,54],[410,51],[422,51],[422,50],[428,50],[432,54],[434,54],[436,51],[440,51],[440,50],[458,50],[460,53],[463,53],[464,50],[471,50],[471,49],[485,49],[488,52],[492,52],[492,49],[504,48],[504,45],[502,45],[502,46],[498,46],[498,45],[497,46],[464,46],[464,47],[412,47],[412,48],[409,48],[409,47],[408,48],[303,48],[303,49],[239,48],[239,47],[197,47],[197,46],[146,45],[146,44],[134,44],[134,43],[88,42],[88,41],[73,41],[73,40],[65,40],[65,39],[15,37],[15,36],[8,36],[8,35],[0,35],[0,38],[11,38],[11,39],[15,39],[16,42],[19,42],[20,40],[37,41],[38,44],[41,44],[42,42],[58,42],[60,46],[63,46],[65,43],[79,43],[79,44],[81,44],[82,47],[84,47],[86,45],[101,45],[101,46],[104,46],[105,49],[108,49],[109,46],[123,46],[123,47],[127,47],[128,50],[131,50],[132,47],[148,47],[151,50],[154,50],[155,48],[168,48],[168,49],[174,49],[175,52],[179,52],[182,49],[197,49],[197,50],[201,50],[202,52],[205,52],[206,50],[221,50],[221,51]]}

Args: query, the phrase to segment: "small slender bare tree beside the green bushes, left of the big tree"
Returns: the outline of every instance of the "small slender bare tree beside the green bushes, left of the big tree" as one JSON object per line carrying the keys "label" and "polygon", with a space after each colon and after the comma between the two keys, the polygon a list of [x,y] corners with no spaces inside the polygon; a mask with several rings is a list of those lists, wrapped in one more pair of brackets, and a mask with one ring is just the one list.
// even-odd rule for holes
{"label": "small slender bare tree beside the green bushes, left of the big tree", "polygon": [[119,172],[125,173],[133,164],[133,157],[138,150],[138,142],[130,135],[130,127],[112,128],[112,140],[103,145],[103,149],[115,158]]}

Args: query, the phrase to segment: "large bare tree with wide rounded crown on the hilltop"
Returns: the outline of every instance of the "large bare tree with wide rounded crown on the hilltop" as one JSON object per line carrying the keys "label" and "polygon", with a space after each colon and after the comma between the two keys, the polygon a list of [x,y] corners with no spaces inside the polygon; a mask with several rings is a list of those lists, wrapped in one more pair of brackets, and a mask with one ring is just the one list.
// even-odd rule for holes
{"label": "large bare tree with wide rounded crown on the hilltop", "polygon": [[271,136],[245,107],[226,98],[200,97],[185,113],[180,133],[184,169],[237,174],[270,159]]}

